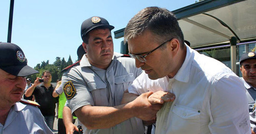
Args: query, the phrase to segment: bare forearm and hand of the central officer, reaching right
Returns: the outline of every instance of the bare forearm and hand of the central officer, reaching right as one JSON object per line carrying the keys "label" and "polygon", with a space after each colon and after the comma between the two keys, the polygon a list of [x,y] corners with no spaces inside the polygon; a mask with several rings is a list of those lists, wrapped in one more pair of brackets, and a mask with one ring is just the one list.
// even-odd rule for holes
{"label": "bare forearm and hand of the central officer, reaching right", "polygon": [[75,110],[75,114],[88,129],[109,128],[132,117],[153,120],[162,105],[148,102],[147,97],[151,94],[152,92],[144,93],[132,102],[114,107],[82,106]]}

